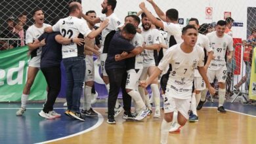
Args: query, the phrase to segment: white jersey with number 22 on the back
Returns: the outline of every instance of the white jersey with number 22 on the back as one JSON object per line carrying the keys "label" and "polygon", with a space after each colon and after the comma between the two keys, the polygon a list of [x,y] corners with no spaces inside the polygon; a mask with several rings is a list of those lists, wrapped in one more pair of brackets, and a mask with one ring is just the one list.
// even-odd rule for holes
{"label": "white jersey with number 22 on the back", "polygon": [[[60,19],[54,26],[53,31],[60,31],[63,37],[68,39],[79,37],[87,37],[91,33],[87,23],[75,16],[68,16]],[[83,56],[83,45],[79,46],[76,43],[62,45],[62,58],[71,58],[76,56]]]}

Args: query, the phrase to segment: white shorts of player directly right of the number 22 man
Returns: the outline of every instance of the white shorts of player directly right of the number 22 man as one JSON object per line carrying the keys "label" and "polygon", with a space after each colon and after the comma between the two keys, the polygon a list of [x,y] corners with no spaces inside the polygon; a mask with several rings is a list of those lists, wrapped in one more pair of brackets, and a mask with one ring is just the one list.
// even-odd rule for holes
{"label": "white shorts of player directly right of the number 22 man", "polygon": [[95,65],[93,62],[93,56],[85,57],[85,82],[94,81],[95,80]]}

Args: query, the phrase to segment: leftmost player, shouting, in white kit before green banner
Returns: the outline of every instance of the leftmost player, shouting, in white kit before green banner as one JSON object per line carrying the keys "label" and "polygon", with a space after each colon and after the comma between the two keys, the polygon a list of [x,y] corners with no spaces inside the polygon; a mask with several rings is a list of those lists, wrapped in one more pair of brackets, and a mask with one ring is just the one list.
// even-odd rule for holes
{"label": "leftmost player, shouting, in white kit before green banner", "polygon": [[16,112],[17,116],[21,116],[26,111],[26,103],[28,101],[28,95],[30,94],[30,88],[33,85],[33,81],[35,80],[35,76],[40,68],[40,59],[42,47],[45,45],[45,39],[40,41],[40,43],[33,43],[41,34],[43,34],[43,29],[49,24],[43,23],[45,19],[45,15],[43,14],[43,10],[35,9],[32,12],[33,20],[35,20],[35,24],[30,26],[26,31],[26,45],[31,52],[31,60],[28,63],[28,80],[26,81],[26,85],[22,92],[21,97],[21,108]]}

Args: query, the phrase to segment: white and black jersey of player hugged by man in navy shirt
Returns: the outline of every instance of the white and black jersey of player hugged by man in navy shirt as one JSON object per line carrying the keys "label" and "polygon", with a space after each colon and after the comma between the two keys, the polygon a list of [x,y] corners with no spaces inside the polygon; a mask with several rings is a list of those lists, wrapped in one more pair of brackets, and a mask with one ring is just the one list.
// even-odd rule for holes
{"label": "white and black jersey of player hugged by man in navy shirt", "polygon": [[[131,40],[131,44],[136,47],[142,47],[143,45],[143,37],[140,33],[136,33],[136,35]],[[129,69],[143,69],[143,54],[137,54],[137,56],[133,58],[128,58],[126,60],[127,70]]]}

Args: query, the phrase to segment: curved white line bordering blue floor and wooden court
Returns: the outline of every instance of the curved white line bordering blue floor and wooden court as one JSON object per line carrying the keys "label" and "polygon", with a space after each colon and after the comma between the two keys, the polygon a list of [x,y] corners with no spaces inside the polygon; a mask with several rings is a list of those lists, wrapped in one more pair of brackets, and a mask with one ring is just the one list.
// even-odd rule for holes
{"label": "curved white line bordering blue floor and wooden court", "polygon": [[[66,108],[58,108],[58,109],[66,109]],[[98,113],[98,112],[96,112],[96,113]],[[72,134],[72,135],[68,135],[66,137],[60,137],[58,139],[52,139],[50,141],[43,141],[43,142],[40,142],[40,143],[51,143],[53,141],[59,141],[59,140],[62,140],[62,139],[67,139],[67,138],[70,138],[70,137],[74,137],[76,135],[85,134],[86,132],[89,132],[91,130],[94,130],[95,128],[98,128],[98,126],[100,126],[100,124],[102,124],[103,120],[104,120],[104,118],[102,117],[102,115],[100,113],[98,113],[98,122],[96,122],[96,124],[94,126],[92,126],[91,128],[88,128],[88,129],[86,129],[84,131],[81,131],[81,132],[77,132],[77,133]]]}

